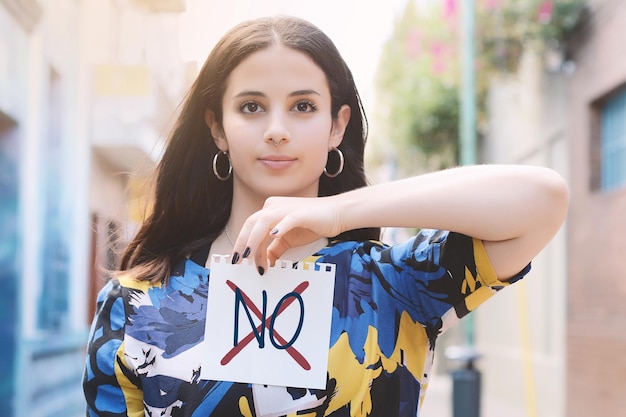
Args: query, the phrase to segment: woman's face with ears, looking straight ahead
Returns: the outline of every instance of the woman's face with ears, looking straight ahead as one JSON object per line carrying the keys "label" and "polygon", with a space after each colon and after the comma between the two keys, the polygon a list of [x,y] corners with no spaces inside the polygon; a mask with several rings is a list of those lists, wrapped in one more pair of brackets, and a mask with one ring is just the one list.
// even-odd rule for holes
{"label": "woman's face with ears, looking straight ahead", "polygon": [[[306,54],[285,46],[254,52],[231,72],[220,129],[206,121],[233,166],[235,198],[315,197],[328,151],[339,146],[350,118],[331,117],[326,75]],[[243,194],[242,194],[243,193]]]}

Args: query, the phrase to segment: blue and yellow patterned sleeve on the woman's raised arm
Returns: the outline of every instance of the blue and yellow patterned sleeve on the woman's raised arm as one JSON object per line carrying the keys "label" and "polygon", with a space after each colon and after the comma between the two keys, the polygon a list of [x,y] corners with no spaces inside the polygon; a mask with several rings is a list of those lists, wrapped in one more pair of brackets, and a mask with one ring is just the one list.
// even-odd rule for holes
{"label": "blue and yellow patterned sleeve on the woman's raised arm", "polygon": [[444,331],[502,288],[518,281],[528,265],[507,282],[498,280],[483,242],[459,233],[422,230],[409,241],[381,252],[378,260],[389,291],[415,321]]}

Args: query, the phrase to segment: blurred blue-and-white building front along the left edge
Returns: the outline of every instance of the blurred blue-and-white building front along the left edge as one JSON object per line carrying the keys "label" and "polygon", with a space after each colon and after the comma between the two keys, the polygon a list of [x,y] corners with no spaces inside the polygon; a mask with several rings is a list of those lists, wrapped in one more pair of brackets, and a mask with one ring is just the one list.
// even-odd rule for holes
{"label": "blurred blue-and-white building front along the left edge", "polygon": [[9,416],[83,408],[87,113],[79,10],[52,3],[0,2],[0,380]]}

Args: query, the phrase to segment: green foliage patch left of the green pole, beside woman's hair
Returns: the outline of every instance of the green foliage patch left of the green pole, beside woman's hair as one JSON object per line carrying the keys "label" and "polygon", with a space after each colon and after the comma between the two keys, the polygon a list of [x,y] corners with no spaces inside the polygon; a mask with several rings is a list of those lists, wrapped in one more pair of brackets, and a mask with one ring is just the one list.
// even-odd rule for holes
{"label": "green foliage patch left of the green pole, beside woman's hair", "polygon": [[[379,106],[385,109],[379,122],[405,173],[454,165],[458,153],[454,31],[442,24],[437,11],[420,12],[409,1],[385,46],[377,78]],[[416,169],[409,157],[415,149],[428,166]]]}

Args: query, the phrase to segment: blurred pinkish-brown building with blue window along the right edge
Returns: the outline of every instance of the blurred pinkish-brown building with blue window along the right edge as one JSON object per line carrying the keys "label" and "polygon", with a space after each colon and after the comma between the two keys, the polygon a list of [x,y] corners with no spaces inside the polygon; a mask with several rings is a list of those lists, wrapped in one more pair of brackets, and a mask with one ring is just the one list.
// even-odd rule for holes
{"label": "blurred pinkish-brown building with blue window along the right edge", "polygon": [[590,0],[572,50],[568,417],[626,409],[625,36],[626,3]]}

